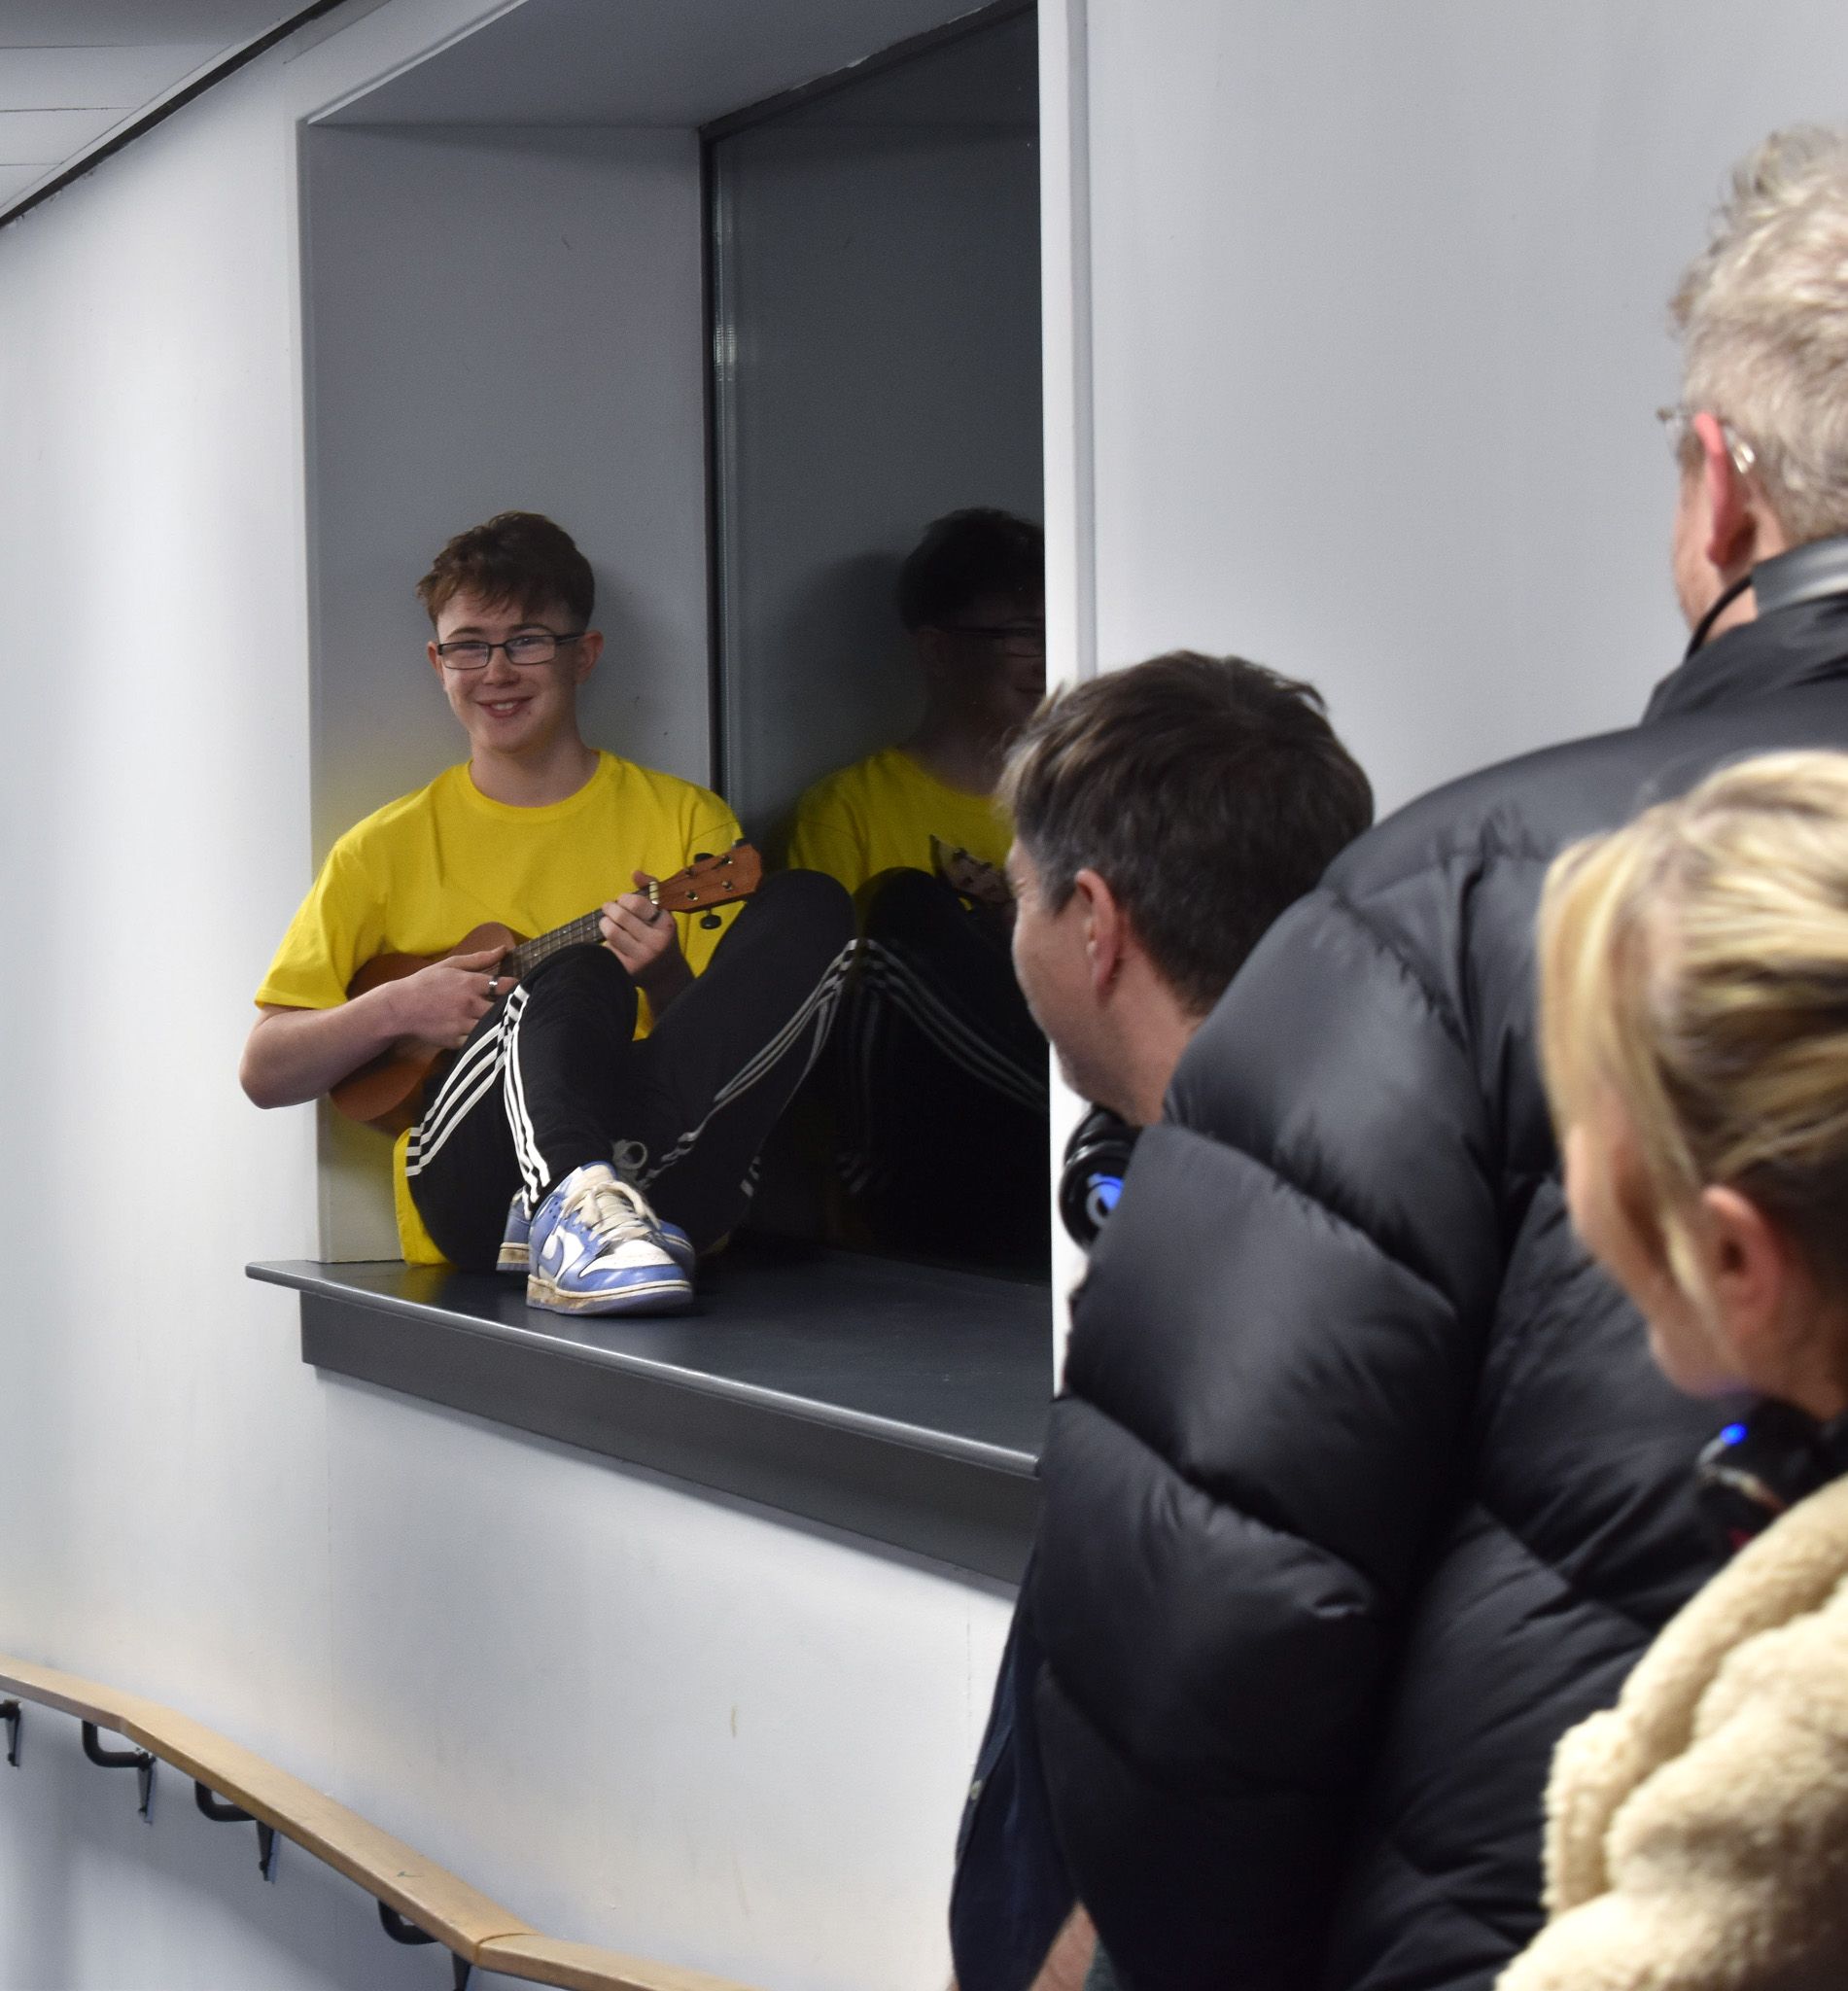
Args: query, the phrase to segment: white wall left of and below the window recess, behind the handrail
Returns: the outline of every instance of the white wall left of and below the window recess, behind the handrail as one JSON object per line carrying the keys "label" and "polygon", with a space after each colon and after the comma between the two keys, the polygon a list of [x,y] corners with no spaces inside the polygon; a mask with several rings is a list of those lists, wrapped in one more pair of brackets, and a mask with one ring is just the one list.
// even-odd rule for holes
{"label": "white wall left of and below the window recess, behind the handrail", "polygon": [[[1006,1599],[323,1384],[241,1276],[315,1250],[313,1115],[235,1083],[313,860],[295,121],[478,12],[337,16],[0,231],[0,906],[32,936],[0,1649],[185,1708],[558,1933],[924,1991]],[[74,1724],[26,1748],[0,1983],[448,1981],[305,1856],[261,1887],[181,1780],[149,1832]]]}

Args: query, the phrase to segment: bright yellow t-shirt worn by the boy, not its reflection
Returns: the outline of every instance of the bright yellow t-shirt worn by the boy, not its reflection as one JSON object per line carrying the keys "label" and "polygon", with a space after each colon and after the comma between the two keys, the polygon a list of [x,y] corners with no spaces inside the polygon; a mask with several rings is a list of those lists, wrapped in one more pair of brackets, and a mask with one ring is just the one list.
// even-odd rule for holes
{"label": "bright yellow t-shirt worn by the boy, not its reflection", "polygon": [[[446,769],[428,788],[386,802],[327,854],[315,888],[289,922],[259,1003],[333,1009],[374,954],[448,954],[476,926],[498,920],[516,934],[548,934],[633,890],[635,870],[669,878],[701,850],[729,850],[737,816],[707,788],[613,753],[562,802],[514,808],[476,788],[468,767]],[[721,926],[677,914],[681,952],[701,974],[725,938]],[[643,997],[635,1035],[647,1035]],[[412,1264],[442,1264],[404,1185],[404,1147],[392,1151],[398,1244]]]}

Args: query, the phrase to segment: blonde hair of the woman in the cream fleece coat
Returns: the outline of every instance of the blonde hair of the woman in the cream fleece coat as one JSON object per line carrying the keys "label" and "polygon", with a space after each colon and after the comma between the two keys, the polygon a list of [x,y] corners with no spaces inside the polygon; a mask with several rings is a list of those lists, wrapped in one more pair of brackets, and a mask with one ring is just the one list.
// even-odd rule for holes
{"label": "blonde hair of the woman in the cream fleece coat", "polygon": [[1565,850],[1539,908],[1553,1119],[1613,1093],[1669,1270],[1703,1294],[1689,1220],[1727,1185],[1848,1290],[1848,755],[1709,774]]}

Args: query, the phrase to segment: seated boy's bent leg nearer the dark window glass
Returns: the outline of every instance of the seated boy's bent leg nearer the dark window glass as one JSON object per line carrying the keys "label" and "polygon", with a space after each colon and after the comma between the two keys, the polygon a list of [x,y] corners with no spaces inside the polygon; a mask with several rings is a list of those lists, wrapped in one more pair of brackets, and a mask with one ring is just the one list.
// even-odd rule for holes
{"label": "seated boy's bent leg nearer the dark window glass", "polygon": [[820,1053],[852,950],[842,886],[779,872],[635,1045],[617,1165],[701,1250],[745,1215],[759,1149]]}

